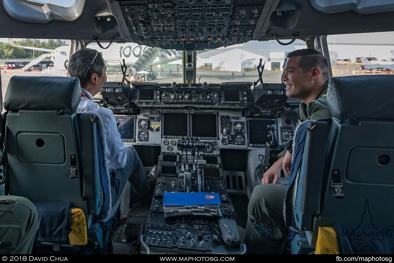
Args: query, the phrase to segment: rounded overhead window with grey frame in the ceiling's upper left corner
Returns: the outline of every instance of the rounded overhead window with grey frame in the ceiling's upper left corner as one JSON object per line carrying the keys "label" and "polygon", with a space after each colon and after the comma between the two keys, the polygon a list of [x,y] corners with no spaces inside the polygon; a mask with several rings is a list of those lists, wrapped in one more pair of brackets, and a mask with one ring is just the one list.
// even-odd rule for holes
{"label": "rounded overhead window with grey frame in the ceiling's upper left corner", "polygon": [[[85,0],[58,6],[31,0],[3,0],[4,9],[14,19],[26,22],[49,23],[52,20],[74,21],[82,14]],[[70,2],[69,2],[70,3]],[[72,3],[72,2],[71,2]]]}

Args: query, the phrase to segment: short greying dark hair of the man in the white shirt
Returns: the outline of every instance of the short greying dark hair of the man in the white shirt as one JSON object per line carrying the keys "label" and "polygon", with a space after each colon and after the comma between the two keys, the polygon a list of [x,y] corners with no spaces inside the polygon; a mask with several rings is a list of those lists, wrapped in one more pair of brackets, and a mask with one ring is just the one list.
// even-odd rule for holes
{"label": "short greying dark hair of the man in the white shirt", "polygon": [[78,77],[81,87],[89,82],[93,73],[101,77],[104,68],[102,53],[90,48],[80,49],[72,54],[68,66],[70,77]]}

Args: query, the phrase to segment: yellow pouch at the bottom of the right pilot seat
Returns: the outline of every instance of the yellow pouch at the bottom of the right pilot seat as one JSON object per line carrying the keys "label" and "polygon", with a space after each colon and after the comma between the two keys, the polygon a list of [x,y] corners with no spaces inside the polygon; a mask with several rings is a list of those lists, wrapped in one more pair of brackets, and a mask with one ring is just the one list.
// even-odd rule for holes
{"label": "yellow pouch at the bottom of the right pilot seat", "polygon": [[338,236],[334,227],[319,227],[315,254],[339,254]]}

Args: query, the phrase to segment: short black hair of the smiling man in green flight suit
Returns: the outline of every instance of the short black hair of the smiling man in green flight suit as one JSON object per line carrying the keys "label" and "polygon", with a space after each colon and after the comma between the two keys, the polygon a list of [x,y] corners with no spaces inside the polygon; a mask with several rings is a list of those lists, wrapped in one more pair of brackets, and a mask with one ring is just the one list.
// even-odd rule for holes
{"label": "short black hair of the smiling man in green flight suit", "polygon": [[287,54],[287,58],[300,56],[299,66],[307,72],[311,68],[319,68],[322,76],[328,79],[327,59],[317,50],[314,49],[297,49]]}

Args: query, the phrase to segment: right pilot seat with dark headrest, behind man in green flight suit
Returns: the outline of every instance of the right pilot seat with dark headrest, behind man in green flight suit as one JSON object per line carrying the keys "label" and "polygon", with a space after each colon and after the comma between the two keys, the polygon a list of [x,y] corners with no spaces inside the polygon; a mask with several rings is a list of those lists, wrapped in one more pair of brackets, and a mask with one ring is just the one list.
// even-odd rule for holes
{"label": "right pilot seat with dark headrest, behind man in green flight suit", "polygon": [[[394,75],[333,77],[333,117],[297,128],[303,141],[294,146],[285,201],[292,254],[394,252],[393,82]],[[338,248],[322,251],[327,227]]]}

